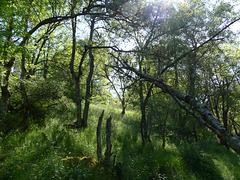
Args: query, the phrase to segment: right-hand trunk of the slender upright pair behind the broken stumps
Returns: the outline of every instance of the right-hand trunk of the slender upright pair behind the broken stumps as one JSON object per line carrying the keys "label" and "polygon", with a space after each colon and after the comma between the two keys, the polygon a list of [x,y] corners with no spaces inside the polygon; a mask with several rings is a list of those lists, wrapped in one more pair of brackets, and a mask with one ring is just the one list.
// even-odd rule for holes
{"label": "right-hand trunk of the slender upright pair behind the broken stumps", "polygon": [[[95,18],[93,18],[91,21],[90,37],[89,37],[90,45],[92,45],[92,40],[93,40],[94,24],[95,24]],[[87,87],[86,87],[86,95],[85,95],[85,106],[84,106],[84,112],[83,112],[83,128],[87,127],[88,112],[89,112],[89,105],[90,105],[90,98],[91,98],[91,82],[92,82],[93,71],[94,71],[94,56],[93,56],[92,48],[89,49],[89,58],[90,58],[90,69],[89,69],[89,74],[86,81]]]}

